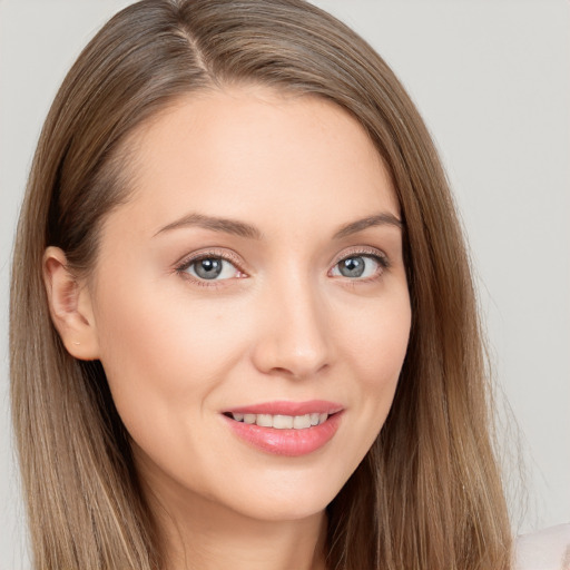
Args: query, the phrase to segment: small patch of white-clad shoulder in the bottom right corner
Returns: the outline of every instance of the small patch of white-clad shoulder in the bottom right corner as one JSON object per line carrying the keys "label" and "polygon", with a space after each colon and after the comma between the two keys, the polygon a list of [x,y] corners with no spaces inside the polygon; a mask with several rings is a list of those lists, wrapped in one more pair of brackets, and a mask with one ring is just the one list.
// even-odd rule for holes
{"label": "small patch of white-clad shoulder in the bottom right corner", "polygon": [[570,570],[570,523],[517,539],[515,570]]}

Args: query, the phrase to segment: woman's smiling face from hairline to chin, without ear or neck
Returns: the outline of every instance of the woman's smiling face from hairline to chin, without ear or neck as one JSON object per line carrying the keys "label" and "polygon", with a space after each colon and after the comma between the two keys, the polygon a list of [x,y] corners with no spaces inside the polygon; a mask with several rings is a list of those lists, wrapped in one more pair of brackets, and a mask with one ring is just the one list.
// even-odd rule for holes
{"label": "woman's smiling face from hairline to chin, without ear or neck", "polygon": [[333,104],[261,88],[193,96],[134,142],[89,295],[142,480],[173,510],[321,512],[379,434],[407,345],[382,160]]}

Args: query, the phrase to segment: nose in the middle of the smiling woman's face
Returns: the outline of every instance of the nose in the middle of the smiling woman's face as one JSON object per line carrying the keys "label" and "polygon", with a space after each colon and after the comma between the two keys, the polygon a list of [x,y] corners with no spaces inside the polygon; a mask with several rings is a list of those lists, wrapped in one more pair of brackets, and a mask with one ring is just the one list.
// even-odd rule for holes
{"label": "nose in the middle of the smiling woman's face", "polygon": [[332,363],[327,308],[301,278],[273,287],[263,304],[253,361],[265,374],[306,379]]}

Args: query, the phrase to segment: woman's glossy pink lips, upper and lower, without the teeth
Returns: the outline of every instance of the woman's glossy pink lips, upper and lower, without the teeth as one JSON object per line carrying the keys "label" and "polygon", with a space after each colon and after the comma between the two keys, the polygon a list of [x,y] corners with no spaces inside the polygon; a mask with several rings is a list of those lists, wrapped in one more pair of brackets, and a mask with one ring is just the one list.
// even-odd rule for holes
{"label": "woman's glossy pink lips, upper and lower, without the teeth", "polygon": [[343,411],[340,404],[314,400],[312,402],[266,402],[225,412],[271,415],[305,415],[317,412],[332,414],[324,423],[304,430],[276,430],[237,422],[228,415],[222,417],[237,438],[257,450],[274,455],[297,458],[320,450],[334,438],[341,424]]}

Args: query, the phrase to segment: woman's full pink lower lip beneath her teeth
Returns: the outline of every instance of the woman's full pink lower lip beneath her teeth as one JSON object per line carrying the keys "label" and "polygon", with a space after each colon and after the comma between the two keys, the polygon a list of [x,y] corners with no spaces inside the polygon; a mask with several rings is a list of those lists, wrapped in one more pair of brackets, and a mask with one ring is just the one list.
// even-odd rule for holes
{"label": "woman's full pink lower lip beneath her teeth", "polygon": [[342,412],[330,415],[326,422],[304,430],[276,430],[261,425],[236,422],[224,415],[233,432],[244,440],[267,453],[297,458],[307,455],[328,443],[341,423]]}

